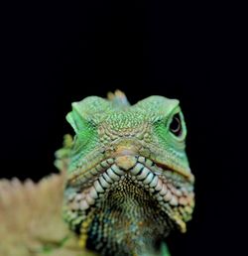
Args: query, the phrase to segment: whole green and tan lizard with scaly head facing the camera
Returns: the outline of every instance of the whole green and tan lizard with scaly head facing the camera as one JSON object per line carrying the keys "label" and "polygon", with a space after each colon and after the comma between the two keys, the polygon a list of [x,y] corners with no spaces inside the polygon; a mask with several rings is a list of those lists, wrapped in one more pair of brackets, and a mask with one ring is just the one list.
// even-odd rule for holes
{"label": "whole green and tan lizard with scaly head facing the camera", "polygon": [[[40,201],[48,202],[39,209],[53,228],[33,222],[39,226],[38,247],[54,239],[51,255],[170,255],[166,238],[175,229],[186,232],[194,207],[194,176],[186,156],[180,101],[150,96],[130,105],[117,90],[108,93],[108,99],[89,96],[73,102],[66,120],[74,136],[66,135],[56,152],[61,174],[38,185],[28,183],[32,186],[0,183],[0,219],[6,197],[17,197],[9,191],[32,187],[37,196],[45,193]],[[5,204],[3,184],[9,188],[7,195],[2,193]],[[39,191],[39,186],[45,189]],[[27,192],[31,197],[32,190]],[[24,199],[19,198],[19,204]],[[47,213],[48,204],[55,208],[53,213]],[[50,214],[57,222],[50,221]],[[7,214],[2,215],[5,220]],[[32,253],[27,255],[44,255],[46,250]]]}

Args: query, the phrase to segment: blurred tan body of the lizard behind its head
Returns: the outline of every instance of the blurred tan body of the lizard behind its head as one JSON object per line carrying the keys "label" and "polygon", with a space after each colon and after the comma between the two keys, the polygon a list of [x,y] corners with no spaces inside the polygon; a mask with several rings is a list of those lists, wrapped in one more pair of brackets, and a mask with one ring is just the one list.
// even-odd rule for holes
{"label": "blurred tan body of the lizard behind its head", "polygon": [[0,180],[1,256],[92,256],[62,220],[63,174],[38,184]]}

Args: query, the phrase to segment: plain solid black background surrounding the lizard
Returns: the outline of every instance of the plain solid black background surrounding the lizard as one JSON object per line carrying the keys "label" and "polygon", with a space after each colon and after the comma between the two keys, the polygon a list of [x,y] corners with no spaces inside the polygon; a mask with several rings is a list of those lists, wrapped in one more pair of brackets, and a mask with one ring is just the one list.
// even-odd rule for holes
{"label": "plain solid black background surrounding the lizard", "polygon": [[0,177],[57,172],[72,101],[116,88],[132,103],[179,98],[196,207],[188,232],[169,238],[172,255],[245,255],[243,16],[226,4],[138,1],[3,11]]}

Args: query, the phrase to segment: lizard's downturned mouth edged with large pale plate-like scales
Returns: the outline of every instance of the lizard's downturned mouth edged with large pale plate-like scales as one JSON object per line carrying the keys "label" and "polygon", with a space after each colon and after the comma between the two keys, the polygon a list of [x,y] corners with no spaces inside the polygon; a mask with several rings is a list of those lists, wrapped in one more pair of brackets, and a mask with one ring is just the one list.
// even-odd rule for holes
{"label": "lizard's downturned mouth edged with large pale plate-like scales", "polygon": [[194,204],[192,179],[144,157],[132,156],[129,162],[125,159],[123,163],[107,159],[93,169],[74,176],[68,183],[70,188],[75,188],[75,192],[68,193],[66,205],[85,215],[90,208],[100,207],[113,190],[121,190],[123,196],[132,193],[123,189],[128,180],[133,187],[154,198],[181,230],[186,231],[185,221],[190,219]]}

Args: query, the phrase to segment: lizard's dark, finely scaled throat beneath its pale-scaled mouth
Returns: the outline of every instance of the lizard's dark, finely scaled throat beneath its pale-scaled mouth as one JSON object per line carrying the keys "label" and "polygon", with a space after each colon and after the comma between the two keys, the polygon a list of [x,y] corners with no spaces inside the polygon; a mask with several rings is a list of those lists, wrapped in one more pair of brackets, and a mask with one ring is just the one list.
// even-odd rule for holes
{"label": "lizard's dark, finely scaled throat beneath its pale-scaled mouth", "polygon": [[168,217],[149,194],[131,181],[124,184],[96,203],[87,247],[101,255],[162,255]]}

